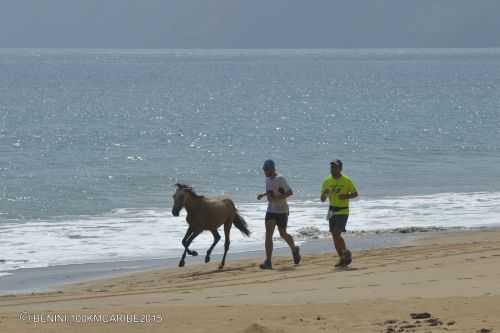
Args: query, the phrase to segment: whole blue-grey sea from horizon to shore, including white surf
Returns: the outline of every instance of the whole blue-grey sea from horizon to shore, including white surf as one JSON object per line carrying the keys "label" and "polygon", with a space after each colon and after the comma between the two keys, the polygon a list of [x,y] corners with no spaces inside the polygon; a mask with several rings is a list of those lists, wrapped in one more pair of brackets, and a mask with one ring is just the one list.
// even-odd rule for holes
{"label": "whole blue-grey sea from horizon to shore, including white surf", "polygon": [[352,229],[500,224],[500,49],[0,50],[0,271],[177,254],[178,181],[260,247],[267,158],[295,231],[333,158]]}

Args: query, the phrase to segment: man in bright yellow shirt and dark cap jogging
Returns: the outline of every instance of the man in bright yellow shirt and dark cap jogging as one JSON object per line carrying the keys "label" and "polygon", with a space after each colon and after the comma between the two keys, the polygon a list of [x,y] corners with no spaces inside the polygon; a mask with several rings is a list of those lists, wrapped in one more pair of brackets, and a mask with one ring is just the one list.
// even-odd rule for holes
{"label": "man in bright yellow shirt and dark cap jogging", "polygon": [[345,232],[347,219],[349,218],[349,200],[358,196],[358,191],[352,180],[342,175],[342,161],[330,162],[331,175],[321,183],[321,201],[328,198],[330,208],[328,209],[328,221],[332,233],[335,249],[340,257],[335,267],[346,267],[352,262],[351,251],[345,246],[342,233]]}

